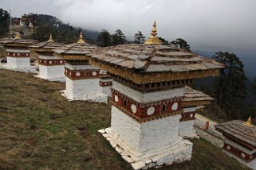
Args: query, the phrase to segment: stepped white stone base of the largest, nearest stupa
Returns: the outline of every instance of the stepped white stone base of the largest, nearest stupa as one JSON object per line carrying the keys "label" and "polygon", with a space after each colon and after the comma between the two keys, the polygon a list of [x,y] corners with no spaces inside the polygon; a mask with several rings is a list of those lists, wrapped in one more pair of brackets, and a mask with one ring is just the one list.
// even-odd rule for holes
{"label": "stepped white stone base of the largest, nearest stupa", "polygon": [[128,150],[128,147],[123,142],[119,141],[118,135],[112,132],[111,128],[98,130],[102,133],[112,147],[116,149],[118,153],[132,165],[132,168],[148,169],[148,168],[160,168],[163,165],[180,163],[186,160],[191,160],[192,143],[191,141],[183,140],[179,137],[179,140],[173,144],[150,150],[146,153],[138,153],[136,151]]}

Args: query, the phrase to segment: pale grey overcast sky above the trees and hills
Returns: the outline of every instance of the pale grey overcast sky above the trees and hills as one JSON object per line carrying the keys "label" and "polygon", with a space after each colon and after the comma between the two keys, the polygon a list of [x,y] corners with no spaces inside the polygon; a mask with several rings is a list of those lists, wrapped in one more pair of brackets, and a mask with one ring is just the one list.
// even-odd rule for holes
{"label": "pale grey overcast sky above the trees and hills", "polygon": [[[146,37],[156,20],[158,36],[181,37],[193,50],[229,51],[256,59],[256,0],[0,0],[0,8],[19,17],[50,14],[84,29],[130,39],[138,30]],[[247,58],[248,60],[248,58]],[[256,66],[256,61],[254,61]],[[256,71],[255,71],[256,72]]]}

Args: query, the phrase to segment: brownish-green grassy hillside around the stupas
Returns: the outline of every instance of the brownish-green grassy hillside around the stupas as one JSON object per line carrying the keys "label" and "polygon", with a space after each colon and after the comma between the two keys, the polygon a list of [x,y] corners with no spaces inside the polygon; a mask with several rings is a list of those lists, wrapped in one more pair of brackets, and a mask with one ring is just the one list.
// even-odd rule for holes
{"label": "brownish-green grassy hillside around the stupas", "polygon": [[[132,169],[97,129],[110,106],[68,102],[50,83],[0,69],[0,169]],[[207,141],[192,140],[190,162],[160,169],[246,169]]]}

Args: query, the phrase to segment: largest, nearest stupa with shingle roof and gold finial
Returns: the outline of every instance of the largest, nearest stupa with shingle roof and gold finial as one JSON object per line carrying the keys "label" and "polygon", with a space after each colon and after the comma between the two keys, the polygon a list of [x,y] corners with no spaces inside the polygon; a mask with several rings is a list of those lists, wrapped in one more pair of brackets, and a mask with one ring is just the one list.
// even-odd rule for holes
{"label": "largest, nearest stupa with shingle roof and gold finial", "polygon": [[223,64],[161,45],[120,44],[89,53],[90,64],[112,75],[111,126],[99,132],[134,169],[191,160],[192,143],[179,137],[185,86],[219,75]]}

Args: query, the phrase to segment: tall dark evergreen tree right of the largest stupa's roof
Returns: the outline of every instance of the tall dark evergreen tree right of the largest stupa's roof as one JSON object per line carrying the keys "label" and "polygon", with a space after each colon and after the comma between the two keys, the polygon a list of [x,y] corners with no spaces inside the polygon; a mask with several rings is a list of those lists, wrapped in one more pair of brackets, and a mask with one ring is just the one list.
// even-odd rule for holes
{"label": "tall dark evergreen tree right of the largest stupa's roof", "polygon": [[225,65],[215,81],[217,103],[226,111],[228,118],[241,118],[242,101],[246,95],[246,75],[242,61],[229,52],[215,52],[213,59]]}

